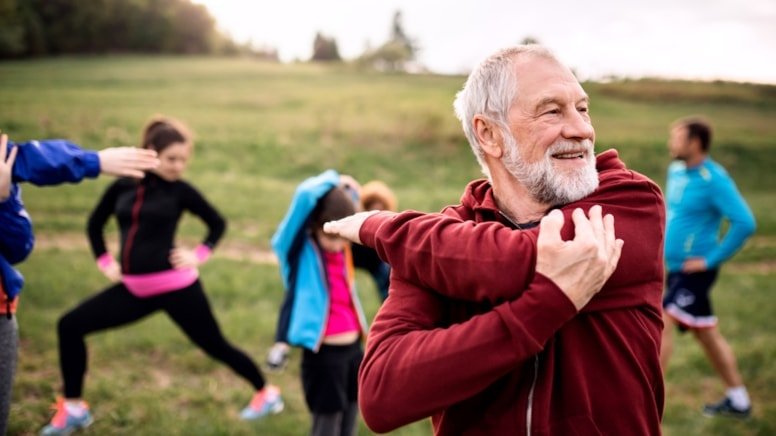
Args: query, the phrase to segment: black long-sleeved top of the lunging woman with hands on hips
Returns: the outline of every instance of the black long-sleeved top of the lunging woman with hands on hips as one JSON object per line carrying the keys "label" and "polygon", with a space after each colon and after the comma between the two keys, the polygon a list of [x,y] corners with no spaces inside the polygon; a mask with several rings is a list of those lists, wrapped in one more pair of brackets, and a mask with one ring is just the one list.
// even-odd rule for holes
{"label": "black long-sleeved top of the lunging woman with hands on hips", "polygon": [[121,272],[145,274],[172,269],[170,250],[181,215],[188,210],[208,227],[203,244],[213,248],[226,230],[226,221],[205,197],[183,180],[168,182],[156,174],[144,179],[118,179],[108,187],[89,217],[87,233],[92,252],[105,247],[103,228],[115,214],[121,232]]}

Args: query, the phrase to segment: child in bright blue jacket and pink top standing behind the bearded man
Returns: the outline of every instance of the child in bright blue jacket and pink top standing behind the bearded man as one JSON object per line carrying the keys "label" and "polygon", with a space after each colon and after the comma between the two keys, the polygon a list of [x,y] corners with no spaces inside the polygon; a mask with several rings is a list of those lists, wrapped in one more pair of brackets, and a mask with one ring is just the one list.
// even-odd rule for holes
{"label": "child in bright blue jacket and pink top standing behind the bearded man", "polygon": [[272,237],[286,293],[270,357],[279,356],[277,364],[285,361],[289,346],[303,348],[302,388],[313,436],[350,436],[357,430],[366,318],[349,242],[323,232],[325,222],[355,213],[346,189],[354,182],[334,170],[303,181]]}

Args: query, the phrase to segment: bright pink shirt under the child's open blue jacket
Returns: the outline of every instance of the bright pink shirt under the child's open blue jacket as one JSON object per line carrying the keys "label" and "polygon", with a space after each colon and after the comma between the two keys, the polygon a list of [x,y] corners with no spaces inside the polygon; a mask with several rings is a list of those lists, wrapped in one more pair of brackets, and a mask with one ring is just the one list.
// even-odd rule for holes
{"label": "bright pink shirt under the child's open blue jacket", "polygon": [[323,252],[326,280],[329,285],[329,321],[325,336],[359,332],[358,314],[353,307],[350,283],[345,268],[345,253]]}

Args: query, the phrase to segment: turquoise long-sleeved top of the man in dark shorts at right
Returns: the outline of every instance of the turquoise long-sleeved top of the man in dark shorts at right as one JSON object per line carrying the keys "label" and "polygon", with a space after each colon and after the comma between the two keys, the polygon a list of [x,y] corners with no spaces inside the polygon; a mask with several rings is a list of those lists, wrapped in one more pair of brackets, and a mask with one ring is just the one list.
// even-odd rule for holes
{"label": "turquoise long-sleeved top of the man in dark shorts at right", "polygon": [[[702,257],[709,269],[719,268],[755,230],[752,211],[735,182],[708,157],[692,168],[681,161],[668,167],[666,207],[669,272],[681,271],[682,263],[691,257]],[[720,238],[723,219],[729,226]]]}

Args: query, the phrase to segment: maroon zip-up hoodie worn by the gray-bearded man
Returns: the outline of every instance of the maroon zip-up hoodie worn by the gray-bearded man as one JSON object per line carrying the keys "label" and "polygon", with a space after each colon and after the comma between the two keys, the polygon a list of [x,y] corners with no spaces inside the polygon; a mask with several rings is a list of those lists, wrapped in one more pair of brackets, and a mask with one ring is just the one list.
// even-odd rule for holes
{"label": "maroon zip-up hoodie worn by the gray-bearded man", "polygon": [[438,435],[656,435],[663,410],[660,189],[597,158],[600,204],[625,241],[617,270],[581,312],[536,274],[538,227],[516,231],[487,181],[442,214],[379,213],[360,237],[392,266],[389,298],[359,374],[377,432],[432,416]]}

